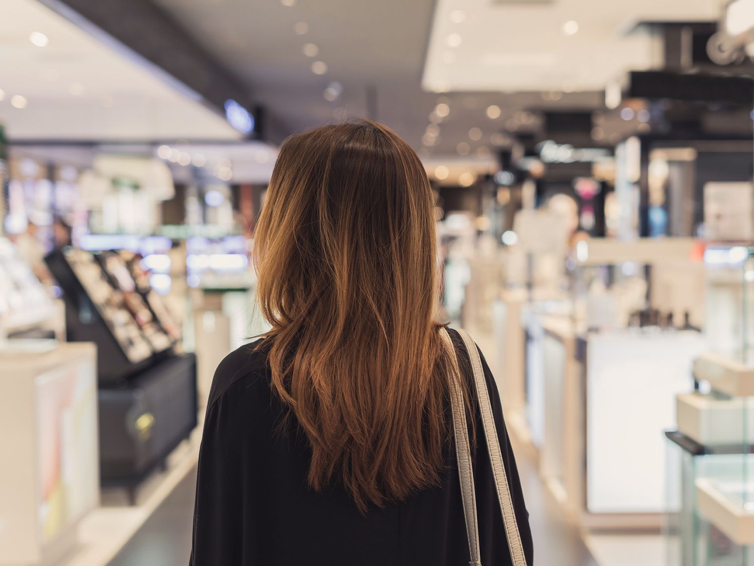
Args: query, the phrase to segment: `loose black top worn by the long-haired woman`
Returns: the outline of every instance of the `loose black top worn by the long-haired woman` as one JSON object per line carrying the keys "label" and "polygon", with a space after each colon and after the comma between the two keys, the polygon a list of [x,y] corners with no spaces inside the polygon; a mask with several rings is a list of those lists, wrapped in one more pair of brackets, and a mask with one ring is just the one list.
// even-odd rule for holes
{"label": "loose black top worn by the long-haired woman", "polygon": [[[450,331],[462,366],[468,357]],[[284,409],[270,387],[264,349],[248,344],[220,363],[199,453],[192,566],[465,566],[469,547],[455,452],[442,485],[363,515],[335,485],[306,485],[311,448],[300,432],[280,434]],[[532,533],[497,387],[482,356],[526,562]],[[467,372],[464,372],[467,373]],[[468,379],[472,379],[469,375]],[[478,415],[478,411],[477,411]],[[510,553],[483,425],[477,416],[474,482],[484,566]]]}

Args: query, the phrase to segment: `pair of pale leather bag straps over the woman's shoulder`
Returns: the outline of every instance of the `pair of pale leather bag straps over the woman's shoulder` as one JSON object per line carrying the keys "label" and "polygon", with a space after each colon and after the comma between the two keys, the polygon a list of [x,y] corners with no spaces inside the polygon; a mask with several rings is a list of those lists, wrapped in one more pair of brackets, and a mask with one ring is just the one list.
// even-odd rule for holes
{"label": "pair of pale leather bag straps over the woman's shoulder", "polygon": [[[450,341],[450,336],[445,330],[444,332],[446,336],[446,342],[450,344],[453,356],[455,359],[455,349],[452,348],[452,342]],[[500,503],[500,511],[501,515],[503,517],[503,525],[505,527],[505,535],[507,537],[508,542],[508,549],[510,549],[510,561],[513,564],[513,566],[526,566],[526,555],[523,552],[523,543],[521,542],[521,535],[519,533],[518,529],[518,522],[516,521],[516,513],[513,510],[513,499],[510,496],[510,485],[508,484],[507,474],[505,472],[505,465],[503,463],[503,454],[500,449],[500,442],[498,441],[498,430],[495,427],[495,415],[492,413],[492,403],[489,400],[489,392],[487,391],[487,384],[486,380],[484,378],[484,369],[482,367],[482,359],[480,358],[479,351],[477,350],[477,344],[474,344],[474,340],[471,339],[468,332],[466,332],[463,329],[458,329],[458,334],[461,335],[461,338],[463,339],[464,346],[466,347],[466,351],[469,357],[469,360],[471,362],[471,367],[474,369],[474,390],[475,393],[477,393],[477,400],[479,402],[479,408],[480,408],[480,415],[482,418],[482,425],[484,429],[484,434],[486,438],[486,444],[487,444],[487,450],[489,451],[489,461],[492,464],[492,476],[495,479],[495,491],[497,491],[498,494],[498,502]],[[456,360],[457,363],[457,360]],[[455,380],[452,380],[455,382]],[[458,393],[461,393],[459,390],[458,383],[455,382],[455,389],[458,390]],[[452,404],[457,404],[459,402],[458,395],[456,395],[455,392],[453,392],[453,385],[451,385],[451,400]],[[461,441],[461,444],[463,445],[463,448],[467,451],[466,457],[468,461],[468,470],[467,472],[462,473],[461,472],[461,457],[458,457],[458,475],[461,478],[461,497],[464,498],[464,515],[466,516],[466,530],[467,533],[470,533],[470,529],[474,528],[474,535],[472,538],[472,535],[469,534],[469,548],[471,548],[472,543],[471,541],[474,540],[474,544],[476,546],[476,554],[472,552],[471,558],[472,562],[471,564],[473,566],[481,566],[481,563],[479,562],[479,556],[480,556],[480,550],[479,550],[479,528],[477,525],[477,502],[476,502],[476,494],[474,491],[474,476],[473,473],[470,473],[471,470],[471,454],[470,454],[470,448],[469,448],[469,442],[468,442],[468,430],[466,427],[466,420],[465,420],[465,408],[463,405],[463,396],[461,394],[460,398],[460,406],[453,408],[453,430],[456,434],[456,455],[458,455],[458,451],[461,449],[459,447],[458,442],[458,426],[456,425],[456,420],[458,418],[457,413],[460,410],[460,417],[462,419],[463,423],[463,431],[462,435],[465,436],[465,439]],[[465,467],[465,464],[464,464]],[[466,473],[469,473],[470,482],[467,482],[467,486],[464,488],[464,475]],[[464,496],[464,492],[467,492],[470,490],[470,496],[466,494]],[[470,497],[473,500],[473,503],[467,505],[466,498]],[[469,513],[467,512],[467,509],[473,509],[473,519],[470,520]],[[474,562],[474,560],[477,560],[477,562]]]}

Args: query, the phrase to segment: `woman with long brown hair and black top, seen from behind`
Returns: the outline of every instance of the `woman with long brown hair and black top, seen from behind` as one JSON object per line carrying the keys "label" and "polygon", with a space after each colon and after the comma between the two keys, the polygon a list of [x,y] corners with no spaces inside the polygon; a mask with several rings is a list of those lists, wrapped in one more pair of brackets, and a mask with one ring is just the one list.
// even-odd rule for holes
{"label": "woman with long brown hair and black top, seen from behind", "polygon": [[[217,369],[199,457],[194,566],[451,566],[469,543],[435,322],[433,197],[414,151],[372,121],[280,148],[256,227],[271,330]],[[468,356],[484,566],[510,564]],[[483,362],[526,563],[532,540]],[[457,374],[456,374],[457,375]]]}

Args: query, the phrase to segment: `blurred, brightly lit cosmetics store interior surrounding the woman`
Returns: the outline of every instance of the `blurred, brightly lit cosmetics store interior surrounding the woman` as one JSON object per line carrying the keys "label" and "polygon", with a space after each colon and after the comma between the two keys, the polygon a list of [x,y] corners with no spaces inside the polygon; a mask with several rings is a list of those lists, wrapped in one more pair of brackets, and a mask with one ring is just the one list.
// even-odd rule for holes
{"label": "blurred, brightly lit cosmetics store interior surrounding the woman", "polygon": [[754,0],[2,0],[0,69],[0,566],[189,564],[278,148],[354,117],[425,166],[535,564],[754,566]]}

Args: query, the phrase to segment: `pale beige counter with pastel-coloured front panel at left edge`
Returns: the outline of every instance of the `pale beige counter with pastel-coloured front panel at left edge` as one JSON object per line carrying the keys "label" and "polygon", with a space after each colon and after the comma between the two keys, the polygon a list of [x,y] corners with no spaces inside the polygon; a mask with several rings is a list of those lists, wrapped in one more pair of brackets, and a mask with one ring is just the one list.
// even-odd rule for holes
{"label": "pale beige counter with pastel-coloured front panel at left edge", "polygon": [[0,564],[55,563],[100,499],[97,349],[0,347]]}

